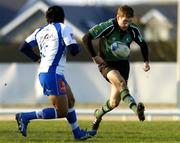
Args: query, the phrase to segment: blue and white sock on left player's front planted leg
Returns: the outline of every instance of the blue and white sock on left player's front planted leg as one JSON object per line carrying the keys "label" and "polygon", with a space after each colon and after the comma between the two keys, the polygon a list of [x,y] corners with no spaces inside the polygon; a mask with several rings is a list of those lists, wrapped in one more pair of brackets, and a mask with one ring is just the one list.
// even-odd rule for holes
{"label": "blue and white sock on left player's front planted leg", "polygon": [[66,119],[68,120],[68,122],[71,126],[74,136],[78,136],[80,128],[79,128],[79,125],[77,122],[76,112],[75,112],[74,108],[68,109],[68,114],[66,116]]}

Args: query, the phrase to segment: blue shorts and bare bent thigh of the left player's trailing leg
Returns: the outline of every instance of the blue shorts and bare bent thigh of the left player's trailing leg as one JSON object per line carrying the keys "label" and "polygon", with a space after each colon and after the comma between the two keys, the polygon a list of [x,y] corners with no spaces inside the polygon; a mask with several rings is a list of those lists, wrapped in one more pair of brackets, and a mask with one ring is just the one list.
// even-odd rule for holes
{"label": "blue shorts and bare bent thigh of the left player's trailing leg", "polygon": [[53,106],[57,109],[59,117],[64,117],[68,111],[68,99],[66,94],[67,82],[63,75],[56,73],[40,73],[40,83],[44,95],[48,96]]}

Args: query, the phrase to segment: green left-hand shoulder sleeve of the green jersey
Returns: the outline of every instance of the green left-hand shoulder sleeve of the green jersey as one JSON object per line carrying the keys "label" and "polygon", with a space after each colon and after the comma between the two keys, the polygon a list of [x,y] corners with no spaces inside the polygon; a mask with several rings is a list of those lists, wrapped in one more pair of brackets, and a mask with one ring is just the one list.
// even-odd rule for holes
{"label": "green left-hand shoulder sleeve of the green jersey", "polygon": [[102,22],[98,25],[95,25],[89,30],[89,33],[93,39],[97,39],[105,35],[105,33],[107,33],[107,31],[109,31],[109,29],[111,29],[112,27],[113,27],[113,21],[112,19],[110,19],[106,22]]}

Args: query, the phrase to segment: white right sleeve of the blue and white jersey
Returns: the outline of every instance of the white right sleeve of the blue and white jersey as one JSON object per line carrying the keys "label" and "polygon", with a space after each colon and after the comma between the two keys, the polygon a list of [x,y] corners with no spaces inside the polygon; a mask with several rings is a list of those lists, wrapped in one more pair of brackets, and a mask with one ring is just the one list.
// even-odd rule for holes
{"label": "white right sleeve of the blue and white jersey", "polygon": [[65,25],[63,26],[62,38],[66,46],[77,43],[74,34],[72,32],[72,29],[69,26],[65,26]]}

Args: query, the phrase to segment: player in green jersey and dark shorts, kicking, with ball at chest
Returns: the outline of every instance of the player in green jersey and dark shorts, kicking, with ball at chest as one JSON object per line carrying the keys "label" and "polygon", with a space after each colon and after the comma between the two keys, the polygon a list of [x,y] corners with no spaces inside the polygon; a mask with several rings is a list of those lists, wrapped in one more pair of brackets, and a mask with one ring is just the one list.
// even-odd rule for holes
{"label": "player in green jersey and dark shorts, kicking, with ball at chest", "polygon": [[[139,29],[132,24],[134,11],[125,5],[119,7],[116,18],[109,19],[91,28],[84,36],[83,42],[99,71],[111,83],[109,100],[101,109],[95,110],[93,130],[97,130],[103,115],[117,107],[121,100],[129,105],[140,121],[145,120],[144,104],[136,103],[130,95],[127,81],[129,77],[130,44],[134,41],[141,49],[144,59],[144,71],[150,70],[148,47]],[[99,39],[99,47],[94,49],[92,41]]]}

